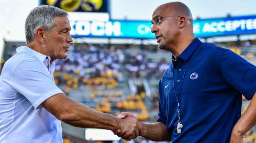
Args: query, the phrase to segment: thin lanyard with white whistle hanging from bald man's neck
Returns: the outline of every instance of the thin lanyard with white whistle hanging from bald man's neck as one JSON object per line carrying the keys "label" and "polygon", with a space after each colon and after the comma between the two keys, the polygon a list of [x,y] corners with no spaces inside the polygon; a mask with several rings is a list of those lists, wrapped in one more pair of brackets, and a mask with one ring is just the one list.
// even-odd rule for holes
{"label": "thin lanyard with white whistle hanging from bald man's neck", "polygon": [[[185,68],[185,71],[184,71],[184,74],[183,74],[183,77],[182,77],[182,80],[181,80],[181,89],[182,89],[182,85],[183,85],[183,81],[184,81],[184,77],[185,77],[185,73],[186,73],[186,70],[187,70],[187,66],[188,66],[188,62],[190,62],[190,60],[187,61],[187,65],[186,65],[186,68]],[[177,97],[176,95],[176,91],[175,91],[175,82],[174,82],[174,66],[172,68],[172,77],[173,77],[173,90],[174,90],[174,95],[176,97],[176,100],[177,100],[177,103],[178,103],[178,109],[177,109],[177,114],[178,114],[178,121],[177,121],[177,133],[181,133],[181,129],[183,127],[183,125],[181,124],[181,117],[180,117],[180,112],[181,112],[181,109],[180,109],[180,99],[181,99],[181,89],[180,89],[180,93],[179,93],[179,97]]]}

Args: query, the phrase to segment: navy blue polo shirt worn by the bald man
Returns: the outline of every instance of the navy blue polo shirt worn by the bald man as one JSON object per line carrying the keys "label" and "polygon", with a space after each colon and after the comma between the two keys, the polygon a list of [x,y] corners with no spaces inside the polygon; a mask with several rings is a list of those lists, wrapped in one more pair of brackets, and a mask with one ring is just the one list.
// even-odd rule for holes
{"label": "navy blue polo shirt worn by the bald man", "polygon": [[[158,122],[166,125],[173,143],[229,142],[241,116],[242,94],[252,98],[255,79],[253,64],[229,49],[195,38],[179,57],[173,57],[160,80]],[[181,134],[176,130],[177,100]]]}

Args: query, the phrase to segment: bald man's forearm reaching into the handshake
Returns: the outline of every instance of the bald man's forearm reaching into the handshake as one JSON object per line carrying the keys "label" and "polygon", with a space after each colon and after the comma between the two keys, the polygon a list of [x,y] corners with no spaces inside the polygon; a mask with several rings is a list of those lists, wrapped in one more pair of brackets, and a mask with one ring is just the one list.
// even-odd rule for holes
{"label": "bald man's forearm reaching into the handshake", "polygon": [[142,123],[142,137],[152,141],[171,141],[171,135],[166,130],[166,125],[162,122],[153,124]]}

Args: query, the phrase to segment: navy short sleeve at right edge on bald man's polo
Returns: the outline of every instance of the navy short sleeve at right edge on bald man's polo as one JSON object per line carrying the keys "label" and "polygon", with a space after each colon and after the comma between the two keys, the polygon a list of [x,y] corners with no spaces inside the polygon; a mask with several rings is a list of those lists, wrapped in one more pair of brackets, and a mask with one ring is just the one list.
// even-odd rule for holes
{"label": "navy short sleeve at right edge on bald man's polo", "polygon": [[226,81],[251,100],[256,92],[256,67],[231,50],[222,54],[220,62]]}

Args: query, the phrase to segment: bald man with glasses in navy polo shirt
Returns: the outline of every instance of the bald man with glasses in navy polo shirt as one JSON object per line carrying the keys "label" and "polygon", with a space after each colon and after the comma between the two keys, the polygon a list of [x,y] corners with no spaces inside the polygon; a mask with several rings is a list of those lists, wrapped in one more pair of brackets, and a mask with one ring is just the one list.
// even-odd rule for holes
{"label": "bald man with glasses in navy polo shirt", "polygon": [[[159,83],[159,117],[140,122],[140,136],[153,141],[244,142],[256,123],[256,67],[194,36],[190,9],[180,2],[160,5],[151,32],[159,48],[172,53],[172,64]],[[242,94],[251,100],[241,116]],[[120,118],[132,117],[123,112]],[[130,139],[132,133],[116,131]]]}

